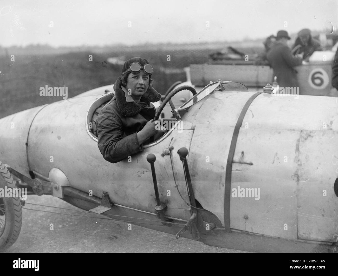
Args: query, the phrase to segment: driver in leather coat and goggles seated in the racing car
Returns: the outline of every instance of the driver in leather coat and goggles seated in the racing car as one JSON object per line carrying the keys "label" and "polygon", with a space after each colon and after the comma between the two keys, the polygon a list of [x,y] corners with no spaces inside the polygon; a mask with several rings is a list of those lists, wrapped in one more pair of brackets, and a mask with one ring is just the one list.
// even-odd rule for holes
{"label": "driver in leather coat and goggles seated in the racing car", "polygon": [[151,102],[161,99],[152,88],[153,69],[148,60],[135,57],[127,60],[115,84],[115,97],[100,111],[97,118],[98,147],[103,158],[117,163],[142,151],[142,143],[152,142],[166,131],[153,121],[156,110]]}

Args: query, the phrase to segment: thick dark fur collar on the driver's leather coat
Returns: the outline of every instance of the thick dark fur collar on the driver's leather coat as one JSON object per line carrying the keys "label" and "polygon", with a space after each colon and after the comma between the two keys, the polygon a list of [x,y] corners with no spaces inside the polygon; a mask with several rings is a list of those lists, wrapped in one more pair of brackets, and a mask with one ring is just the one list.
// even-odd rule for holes
{"label": "thick dark fur collar on the driver's leather coat", "polygon": [[[118,77],[114,84],[114,91],[116,97],[117,107],[121,114],[126,117],[133,117],[141,111],[141,107],[135,102],[127,102],[125,93],[121,88],[122,76]],[[154,88],[148,87],[147,91],[142,95],[140,102],[147,103],[157,102],[161,100],[161,94]]]}

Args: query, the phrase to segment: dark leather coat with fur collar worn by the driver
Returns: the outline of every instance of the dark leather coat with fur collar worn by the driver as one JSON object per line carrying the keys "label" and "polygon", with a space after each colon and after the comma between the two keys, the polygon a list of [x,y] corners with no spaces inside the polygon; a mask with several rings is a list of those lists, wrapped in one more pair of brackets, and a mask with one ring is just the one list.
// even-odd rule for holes
{"label": "dark leather coat with fur collar worn by the driver", "polygon": [[[136,133],[155,116],[156,110],[151,102],[161,99],[160,93],[148,87],[139,103],[127,102],[121,81],[119,77],[115,82],[115,97],[101,109],[97,118],[97,145],[103,158],[111,163],[142,151]],[[144,141],[147,142],[151,139]]]}

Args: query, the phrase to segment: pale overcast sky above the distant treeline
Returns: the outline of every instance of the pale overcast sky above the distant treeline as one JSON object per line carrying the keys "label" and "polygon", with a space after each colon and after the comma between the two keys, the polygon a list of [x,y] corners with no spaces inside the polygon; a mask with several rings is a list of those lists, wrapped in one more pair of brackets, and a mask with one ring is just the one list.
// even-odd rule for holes
{"label": "pale overcast sky above the distant treeline", "polygon": [[0,46],[104,46],[338,34],[337,0],[0,0]]}

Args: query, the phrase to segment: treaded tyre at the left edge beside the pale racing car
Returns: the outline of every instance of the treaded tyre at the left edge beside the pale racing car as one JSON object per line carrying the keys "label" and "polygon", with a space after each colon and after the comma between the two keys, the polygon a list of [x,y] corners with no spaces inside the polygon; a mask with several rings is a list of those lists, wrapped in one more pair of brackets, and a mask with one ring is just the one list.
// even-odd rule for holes
{"label": "treaded tyre at the left edge beside the pale racing car", "polygon": [[[0,161],[0,189],[15,188],[15,181]],[[0,251],[10,247],[18,239],[22,224],[22,209],[19,197],[0,198]]]}

